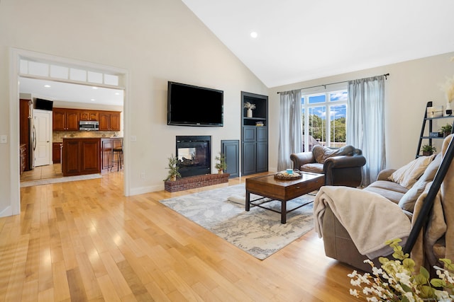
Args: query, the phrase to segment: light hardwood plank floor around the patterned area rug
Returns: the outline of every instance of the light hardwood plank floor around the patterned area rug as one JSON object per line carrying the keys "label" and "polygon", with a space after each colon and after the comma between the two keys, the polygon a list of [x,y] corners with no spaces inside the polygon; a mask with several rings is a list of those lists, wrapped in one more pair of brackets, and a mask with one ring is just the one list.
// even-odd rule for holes
{"label": "light hardwood plank floor around the patterned area rug", "polygon": [[261,261],[159,203],[244,180],[133,197],[122,172],[23,187],[21,215],[0,219],[0,301],[355,301],[353,269],[314,231]]}

